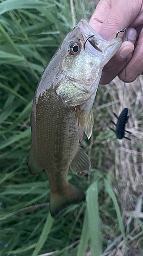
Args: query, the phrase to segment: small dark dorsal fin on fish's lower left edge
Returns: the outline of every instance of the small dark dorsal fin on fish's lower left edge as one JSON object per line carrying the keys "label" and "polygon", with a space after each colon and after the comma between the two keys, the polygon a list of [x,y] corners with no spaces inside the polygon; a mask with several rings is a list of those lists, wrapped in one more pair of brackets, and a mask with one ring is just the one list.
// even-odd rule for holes
{"label": "small dark dorsal fin on fish's lower left edge", "polygon": [[39,163],[36,160],[33,145],[31,145],[28,168],[29,168],[30,174],[35,176],[38,176],[40,173],[42,173],[42,170],[43,170],[43,168],[39,165]]}

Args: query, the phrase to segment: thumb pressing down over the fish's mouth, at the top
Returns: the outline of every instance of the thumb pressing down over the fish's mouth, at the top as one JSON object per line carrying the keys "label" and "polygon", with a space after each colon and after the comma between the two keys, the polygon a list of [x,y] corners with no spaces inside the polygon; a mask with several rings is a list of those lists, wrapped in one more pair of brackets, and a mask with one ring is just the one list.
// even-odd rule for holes
{"label": "thumb pressing down over the fish's mouth, at the top", "polygon": [[132,4],[130,0],[116,0],[101,26],[100,35],[109,40],[122,28],[128,28],[138,15],[141,4],[140,0],[132,1]]}

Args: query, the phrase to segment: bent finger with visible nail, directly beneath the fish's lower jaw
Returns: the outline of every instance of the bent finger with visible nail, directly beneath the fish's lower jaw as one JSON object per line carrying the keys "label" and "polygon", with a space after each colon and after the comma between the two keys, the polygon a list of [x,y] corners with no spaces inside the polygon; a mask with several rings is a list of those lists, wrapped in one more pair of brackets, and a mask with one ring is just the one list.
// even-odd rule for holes
{"label": "bent finger with visible nail, directly beneath the fish's lower jaw", "polygon": [[100,79],[101,84],[109,83],[124,69],[124,67],[127,65],[132,57],[133,50],[134,45],[132,44],[132,42],[123,42],[118,52],[110,59],[110,61],[104,67]]}

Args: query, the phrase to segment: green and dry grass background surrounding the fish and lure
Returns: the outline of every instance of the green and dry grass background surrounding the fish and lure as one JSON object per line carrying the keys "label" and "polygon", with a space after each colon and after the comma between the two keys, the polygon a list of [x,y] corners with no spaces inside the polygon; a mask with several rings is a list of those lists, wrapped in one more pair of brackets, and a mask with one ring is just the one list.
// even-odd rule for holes
{"label": "green and dry grass background surrounding the fish and lure", "polygon": [[[76,23],[97,2],[75,0]],[[122,111],[124,83],[99,86],[93,135],[82,143],[91,172],[68,175],[87,202],[53,220],[45,173],[28,173],[30,114],[39,78],[73,28],[70,1],[0,1],[0,14],[0,255],[142,255],[142,77],[125,86],[131,142],[108,129],[112,112]]]}

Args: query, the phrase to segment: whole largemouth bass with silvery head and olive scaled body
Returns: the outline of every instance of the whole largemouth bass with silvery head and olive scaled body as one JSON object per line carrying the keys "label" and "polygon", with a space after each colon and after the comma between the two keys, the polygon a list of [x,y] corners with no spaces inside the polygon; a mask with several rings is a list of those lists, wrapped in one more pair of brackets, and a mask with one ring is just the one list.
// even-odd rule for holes
{"label": "whole largemouth bass with silvery head and olive scaled body", "polygon": [[50,186],[50,213],[85,200],[67,180],[69,168],[88,174],[89,156],[79,144],[90,139],[92,106],[103,67],[118,51],[121,38],[104,40],[85,19],[67,34],[43,72],[31,113],[32,145],[28,168],[38,176],[45,170]]}

